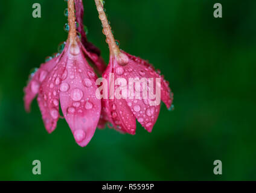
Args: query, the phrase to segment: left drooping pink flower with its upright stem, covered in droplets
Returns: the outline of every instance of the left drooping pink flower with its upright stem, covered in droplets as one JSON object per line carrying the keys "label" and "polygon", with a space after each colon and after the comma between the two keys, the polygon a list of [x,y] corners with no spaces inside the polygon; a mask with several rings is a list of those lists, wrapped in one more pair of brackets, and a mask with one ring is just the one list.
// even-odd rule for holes
{"label": "left drooping pink flower with its upright stem, covered in droplets", "polygon": [[85,147],[98,124],[101,101],[95,97],[94,70],[85,59],[85,48],[75,30],[74,2],[68,1],[69,37],[63,52],[40,66],[25,87],[25,109],[37,95],[46,130],[51,133],[60,118],[59,103],[75,141]]}

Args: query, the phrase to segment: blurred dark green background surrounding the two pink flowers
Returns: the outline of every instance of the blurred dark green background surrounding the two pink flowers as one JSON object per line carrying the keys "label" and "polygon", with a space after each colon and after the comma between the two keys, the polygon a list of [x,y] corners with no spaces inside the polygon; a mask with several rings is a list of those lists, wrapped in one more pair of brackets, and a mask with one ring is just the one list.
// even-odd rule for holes
{"label": "blurred dark green background surrounding the two pink flowers", "polygon": [[[39,2],[42,18],[32,17]],[[221,2],[223,18],[213,17]],[[109,51],[93,0],[88,39]],[[256,180],[256,1],[106,0],[120,48],[161,69],[174,92],[152,133],[97,130],[79,147],[65,119],[48,134],[33,101],[23,104],[31,69],[67,33],[63,0],[0,2],[0,180]],[[40,160],[42,175],[32,174]],[[222,160],[223,175],[213,174]]]}

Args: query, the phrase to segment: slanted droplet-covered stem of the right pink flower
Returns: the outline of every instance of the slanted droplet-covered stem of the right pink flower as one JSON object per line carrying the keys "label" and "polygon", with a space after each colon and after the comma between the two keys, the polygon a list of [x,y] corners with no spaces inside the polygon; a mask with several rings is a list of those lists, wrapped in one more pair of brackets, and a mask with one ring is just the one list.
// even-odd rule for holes
{"label": "slanted droplet-covered stem of the right pink flower", "polygon": [[115,42],[114,35],[112,34],[111,27],[109,25],[109,21],[107,21],[107,16],[104,12],[103,2],[101,0],[95,0],[95,4],[97,7],[98,15],[103,25],[103,34],[107,37],[106,42],[109,44],[110,55],[118,55],[120,53],[120,49]]}

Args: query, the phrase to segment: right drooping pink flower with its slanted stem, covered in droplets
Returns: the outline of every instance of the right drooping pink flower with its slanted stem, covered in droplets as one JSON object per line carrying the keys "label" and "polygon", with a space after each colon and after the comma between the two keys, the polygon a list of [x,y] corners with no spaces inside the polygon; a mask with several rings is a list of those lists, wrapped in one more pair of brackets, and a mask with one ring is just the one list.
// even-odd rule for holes
{"label": "right drooping pink flower with its slanted stem, covered in droplets", "polygon": [[[104,13],[103,4],[100,0],[95,0],[97,10],[99,13],[99,18],[103,24],[103,33],[107,37],[107,42],[110,48],[110,60],[106,71],[103,73],[103,77],[106,78],[108,87],[115,85],[120,78],[125,81],[124,84],[129,83],[129,78],[133,80],[139,80],[140,78],[146,78],[147,87],[145,90],[149,92],[156,92],[156,89],[161,90],[158,95],[161,95],[161,100],[165,103],[167,108],[171,107],[173,101],[173,93],[171,93],[168,82],[164,80],[164,77],[155,72],[155,69],[145,60],[139,59],[133,55],[127,54],[124,51],[120,51],[113,34],[111,33],[111,28],[109,22],[107,21],[106,14]],[[112,76],[114,77],[112,78]],[[119,79],[118,79],[119,78]],[[151,78],[151,79],[150,79]],[[149,87],[149,80],[153,80],[156,83],[157,78],[160,80],[158,84],[153,84],[153,87]],[[132,83],[133,84],[133,83]],[[133,93],[142,92],[143,88],[140,86],[134,87],[134,90],[129,90],[127,87],[127,96]],[[120,86],[122,86],[120,84]],[[117,86],[114,86],[117,88]],[[122,90],[122,92],[125,90]],[[135,91],[135,92],[133,92]],[[130,92],[130,93],[129,93]],[[146,128],[147,131],[151,132],[153,125],[158,119],[160,104],[153,103],[149,98],[143,98],[142,96],[138,98],[126,97],[117,98],[115,91],[110,93],[108,89],[107,99],[103,99],[103,110],[102,114],[104,119],[109,121],[116,130],[122,133],[135,134],[136,130],[136,119],[142,127]]]}

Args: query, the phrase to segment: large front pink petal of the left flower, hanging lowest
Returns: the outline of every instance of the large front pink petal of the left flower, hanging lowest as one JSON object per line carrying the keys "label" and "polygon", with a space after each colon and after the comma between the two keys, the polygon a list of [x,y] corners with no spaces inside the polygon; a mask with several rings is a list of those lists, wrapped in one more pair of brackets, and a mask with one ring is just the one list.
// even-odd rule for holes
{"label": "large front pink petal of the left flower, hanging lowest", "polygon": [[60,84],[60,105],[75,141],[85,147],[94,136],[100,119],[101,100],[95,96],[97,77],[82,54],[80,42],[79,47],[78,55],[64,56],[68,59],[68,75]]}

